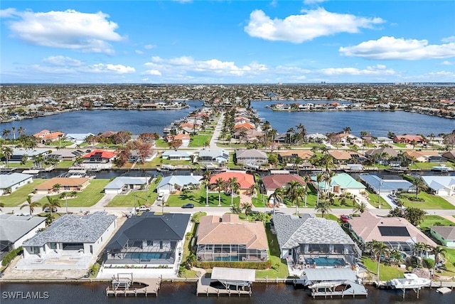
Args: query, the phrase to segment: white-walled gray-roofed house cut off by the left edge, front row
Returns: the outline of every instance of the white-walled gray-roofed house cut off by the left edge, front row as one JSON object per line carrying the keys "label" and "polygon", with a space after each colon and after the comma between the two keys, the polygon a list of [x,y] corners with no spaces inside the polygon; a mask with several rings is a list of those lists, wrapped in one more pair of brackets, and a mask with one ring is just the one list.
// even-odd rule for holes
{"label": "white-walled gray-roofed house cut off by the left edge, front row", "polygon": [[0,214],[0,261],[6,253],[45,229],[45,217]]}

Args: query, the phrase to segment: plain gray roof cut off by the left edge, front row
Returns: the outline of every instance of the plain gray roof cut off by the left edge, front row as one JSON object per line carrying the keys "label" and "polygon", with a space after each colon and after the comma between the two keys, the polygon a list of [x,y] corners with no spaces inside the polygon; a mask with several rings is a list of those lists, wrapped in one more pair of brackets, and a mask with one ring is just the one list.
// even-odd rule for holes
{"label": "plain gray roof cut off by the left edge, front row", "polygon": [[45,221],[45,217],[41,216],[0,214],[0,241],[14,243],[43,223],[43,221]]}

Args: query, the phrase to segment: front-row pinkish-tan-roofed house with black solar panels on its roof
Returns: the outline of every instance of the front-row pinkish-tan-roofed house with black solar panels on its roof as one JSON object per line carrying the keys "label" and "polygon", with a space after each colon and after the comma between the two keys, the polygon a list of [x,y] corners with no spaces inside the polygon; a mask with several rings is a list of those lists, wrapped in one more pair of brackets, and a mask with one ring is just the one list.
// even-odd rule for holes
{"label": "front-row pinkish-tan-roofed house with black solar panels on its roof", "polygon": [[350,219],[348,223],[355,239],[365,246],[373,240],[380,241],[409,255],[412,254],[415,243],[437,246],[432,239],[402,217],[382,217],[365,211]]}

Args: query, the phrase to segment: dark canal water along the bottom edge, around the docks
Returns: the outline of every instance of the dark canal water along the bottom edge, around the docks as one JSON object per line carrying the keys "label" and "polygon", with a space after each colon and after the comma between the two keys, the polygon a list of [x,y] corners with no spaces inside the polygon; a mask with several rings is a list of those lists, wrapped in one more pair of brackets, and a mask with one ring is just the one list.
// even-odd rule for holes
{"label": "dark canal water along the bottom edge, around the docks", "polygon": [[[413,290],[407,290],[405,299],[402,298],[401,290],[378,290],[373,286],[368,286],[368,297],[335,297],[335,298],[311,298],[309,290],[294,288],[294,285],[283,283],[253,283],[251,297],[238,297],[237,295],[220,296],[196,295],[196,283],[161,283],[158,296],[118,296],[117,298],[105,294],[107,283],[2,283],[0,303],[46,303],[46,304],[65,304],[65,303],[200,303],[200,304],[373,304],[373,303],[432,303],[432,304],[453,304],[455,303],[455,291],[441,295],[436,288],[424,288],[420,290],[419,298]],[[5,298],[4,295],[19,293],[26,295],[27,292],[41,292],[48,294],[47,299],[23,299]]]}

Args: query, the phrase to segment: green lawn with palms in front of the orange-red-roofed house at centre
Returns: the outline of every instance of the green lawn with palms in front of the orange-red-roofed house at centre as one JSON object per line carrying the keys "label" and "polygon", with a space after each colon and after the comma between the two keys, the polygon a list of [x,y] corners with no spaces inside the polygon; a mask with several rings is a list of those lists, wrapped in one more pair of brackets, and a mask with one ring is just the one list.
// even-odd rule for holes
{"label": "green lawn with palms in front of the orange-red-roofed house at centre", "polygon": [[[231,197],[221,192],[221,206],[229,207]],[[234,204],[240,203],[240,197],[234,197]],[[170,195],[166,201],[166,206],[176,207],[184,204],[194,204],[196,207],[205,206],[205,188],[197,189],[193,192],[181,192],[180,194]],[[218,206],[218,192],[208,194],[208,205]]]}

